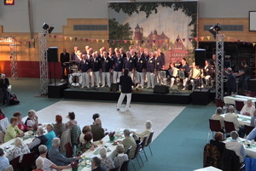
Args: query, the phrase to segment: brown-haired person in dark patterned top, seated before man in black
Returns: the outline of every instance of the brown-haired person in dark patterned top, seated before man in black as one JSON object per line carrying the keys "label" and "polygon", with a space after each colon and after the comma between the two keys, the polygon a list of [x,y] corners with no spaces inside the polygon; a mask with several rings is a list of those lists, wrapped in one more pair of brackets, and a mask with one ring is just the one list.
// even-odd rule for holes
{"label": "brown-haired person in dark patterned top, seated before man in black", "polygon": [[92,140],[92,134],[90,132],[84,134],[84,142],[79,143],[78,145],[78,156],[83,154],[85,151],[88,151],[89,149],[91,151],[94,151],[97,145],[91,143],[91,140]]}

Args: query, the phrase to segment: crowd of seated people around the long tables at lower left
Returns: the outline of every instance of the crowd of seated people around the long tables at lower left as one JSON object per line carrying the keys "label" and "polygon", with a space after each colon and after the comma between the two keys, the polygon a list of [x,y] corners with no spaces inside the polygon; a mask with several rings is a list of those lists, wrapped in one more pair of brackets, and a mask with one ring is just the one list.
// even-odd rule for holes
{"label": "crowd of seated people around the long tables at lower left", "polygon": [[[66,157],[65,153],[61,153],[61,134],[76,127],[78,122],[75,120],[74,112],[69,112],[67,118],[69,121],[67,123],[62,123],[62,117],[60,115],[55,116],[55,124],[47,124],[42,126],[38,123],[38,116],[36,111],[28,111],[28,117],[26,122],[22,122],[21,113],[15,112],[15,117],[10,118],[9,127],[5,131],[4,142],[9,140],[14,140],[14,148],[10,149],[6,154],[1,156],[0,148],[0,164],[2,163],[3,168],[9,167],[9,161],[13,160],[15,157],[20,157],[19,162],[22,162],[23,156],[34,152],[35,163],[37,168],[35,171],[40,170],[61,170],[64,168],[70,168],[71,162],[78,161],[81,159],[81,155],[85,151],[94,151],[98,146],[94,141],[99,141],[106,135],[105,130],[102,128],[102,120],[98,113],[93,115],[93,124],[85,125],[84,128],[78,131],[77,142],[75,144],[76,154],[74,157]],[[107,157],[107,149],[101,147],[99,153],[100,158],[92,159],[91,167],[92,170],[110,170],[112,168],[119,168],[123,162],[129,160],[129,158],[134,157],[135,150],[137,148],[137,143],[140,143],[145,137],[148,137],[152,133],[152,122],[146,121],[146,129],[142,133],[130,132],[129,129],[124,130],[125,139],[116,146],[117,155],[116,157]],[[37,129],[35,129],[37,128]],[[79,127],[78,127],[79,128]],[[21,129],[21,130],[20,130]],[[23,143],[23,136],[25,132],[31,133],[36,131],[35,138],[29,144]],[[56,136],[58,134],[58,136]],[[131,136],[133,134],[133,136]],[[70,135],[71,136],[71,135]],[[133,137],[137,137],[137,142]],[[72,139],[71,139],[72,141]],[[70,141],[70,142],[71,142]],[[128,148],[131,147],[129,154],[125,154]],[[4,153],[4,152],[3,152]],[[129,155],[129,157],[128,157]],[[7,163],[8,162],[8,163]]]}

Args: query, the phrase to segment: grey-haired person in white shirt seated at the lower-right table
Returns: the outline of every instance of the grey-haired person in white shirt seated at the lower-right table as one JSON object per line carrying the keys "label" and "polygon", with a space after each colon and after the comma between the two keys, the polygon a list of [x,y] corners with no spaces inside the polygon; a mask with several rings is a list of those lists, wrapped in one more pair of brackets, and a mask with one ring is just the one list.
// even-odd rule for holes
{"label": "grey-haired person in white shirt seated at the lower-right table", "polygon": [[244,150],[244,147],[241,143],[237,141],[238,139],[238,133],[236,131],[232,131],[230,133],[230,136],[232,140],[226,143],[226,149],[229,149],[231,151],[235,151],[236,155],[240,159],[240,163],[243,162],[244,157],[246,157],[246,151]]}

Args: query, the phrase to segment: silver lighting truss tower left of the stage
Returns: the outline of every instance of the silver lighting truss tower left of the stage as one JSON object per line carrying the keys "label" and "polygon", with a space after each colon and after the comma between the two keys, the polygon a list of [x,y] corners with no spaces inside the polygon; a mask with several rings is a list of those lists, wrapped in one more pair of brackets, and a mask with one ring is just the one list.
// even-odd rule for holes
{"label": "silver lighting truss tower left of the stage", "polygon": [[46,33],[39,33],[40,95],[48,94],[48,63]]}

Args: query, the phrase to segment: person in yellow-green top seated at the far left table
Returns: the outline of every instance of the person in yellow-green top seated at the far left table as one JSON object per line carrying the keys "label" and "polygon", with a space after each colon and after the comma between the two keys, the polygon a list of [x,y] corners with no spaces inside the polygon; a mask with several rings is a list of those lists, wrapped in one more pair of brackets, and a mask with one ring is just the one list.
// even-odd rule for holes
{"label": "person in yellow-green top seated at the far left table", "polygon": [[6,129],[4,135],[4,142],[15,139],[16,137],[23,137],[24,133],[17,127],[18,119],[17,117],[10,118],[9,127]]}

